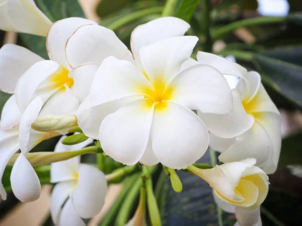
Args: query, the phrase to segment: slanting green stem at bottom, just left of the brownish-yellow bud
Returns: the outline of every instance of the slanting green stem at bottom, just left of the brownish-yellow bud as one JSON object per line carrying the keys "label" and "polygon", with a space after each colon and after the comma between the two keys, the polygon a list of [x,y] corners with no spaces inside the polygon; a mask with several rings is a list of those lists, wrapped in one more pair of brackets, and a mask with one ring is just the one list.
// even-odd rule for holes
{"label": "slanting green stem at bottom, just left of the brownish-yellow bud", "polygon": [[127,194],[125,200],[123,201],[123,204],[119,210],[119,213],[117,215],[115,225],[116,226],[124,226],[130,215],[130,211],[132,210],[133,204],[138,196],[138,192],[140,190],[140,187],[142,185],[142,179],[139,178],[136,180],[134,184],[132,184],[131,190]]}

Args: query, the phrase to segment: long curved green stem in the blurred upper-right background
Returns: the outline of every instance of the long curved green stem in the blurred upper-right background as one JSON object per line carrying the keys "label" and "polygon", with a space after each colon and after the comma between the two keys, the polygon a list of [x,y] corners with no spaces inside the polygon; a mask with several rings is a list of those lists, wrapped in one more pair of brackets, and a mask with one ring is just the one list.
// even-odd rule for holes
{"label": "long curved green stem in the blurred upper-right background", "polygon": [[212,37],[214,40],[217,40],[222,35],[232,32],[237,28],[254,26],[254,25],[262,25],[262,24],[271,24],[271,23],[280,23],[285,22],[285,17],[257,17],[252,19],[246,19],[242,21],[237,21],[231,23],[229,25],[223,26],[212,33]]}

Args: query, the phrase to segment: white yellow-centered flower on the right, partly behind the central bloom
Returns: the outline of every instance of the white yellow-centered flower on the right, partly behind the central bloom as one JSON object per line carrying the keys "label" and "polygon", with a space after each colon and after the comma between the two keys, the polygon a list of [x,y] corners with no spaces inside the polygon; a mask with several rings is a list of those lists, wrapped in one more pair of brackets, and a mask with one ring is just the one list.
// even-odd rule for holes
{"label": "white yellow-centered flower on the right, partly behind the central bloom", "polygon": [[247,72],[237,63],[210,53],[198,52],[187,65],[209,64],[225,76],[237,76],[232,89],[234,108],[230,114],[214,115],[198,111],[210,131],[210,146],[222,152],[221,162],[256,158],[266,173],[275,172],[281,149],[281,116],[255,71]]}

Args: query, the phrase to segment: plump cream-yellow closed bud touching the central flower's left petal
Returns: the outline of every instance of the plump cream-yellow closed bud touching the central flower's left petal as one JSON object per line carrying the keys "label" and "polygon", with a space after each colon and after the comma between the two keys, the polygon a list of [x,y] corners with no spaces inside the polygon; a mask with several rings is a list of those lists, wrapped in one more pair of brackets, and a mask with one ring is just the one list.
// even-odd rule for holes
{"label": "plump cream-yellow closed bud touching the central flower's left petal", "polygon": [[40,132],[50,132],[67,129],[77,125],[77,118],[74,115],[46,115],[39,116],[32,124],[32,129]]}

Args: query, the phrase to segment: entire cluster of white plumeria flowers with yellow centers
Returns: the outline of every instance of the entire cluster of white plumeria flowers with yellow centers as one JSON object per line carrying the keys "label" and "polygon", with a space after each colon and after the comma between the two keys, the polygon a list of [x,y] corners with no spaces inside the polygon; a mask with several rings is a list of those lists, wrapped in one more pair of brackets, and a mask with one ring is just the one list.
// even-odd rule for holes
{"label": "entire cluster of white plumeria flowers with yellow centers", "polygon": [[[261,222],[266,174],[276,170],[279,158],[281,118],[257,72],[210,53],[191,58],[198,38],[184,36],[190,25],[178,18],[135,28],[130,51],[93,21],[67,18],[52,24],[32,0],[2,2],[0,29],[46,36],[49,56],[45,60],[13,44],[0,49],[0,89],[13,94],[1,115],[0,178],[20,149],[11,174],[17,198],[28,202],[40,196],[27,153],[78,125],[90,139],[74,146],[61,139],[55,154],[82,149],[93,138],[125,165],[187,169],[209,183],[218,204],[236,206],[240,225]],[[238,79],[236,87],[226,76]],[[192,165],[209,145],[221,152],[224,164]],[[57,183],[51,202],[55,224],[85,225],[81,217],[101,210],[106,177],[80,164],[80,157],[52,163],[51,182]]]}

